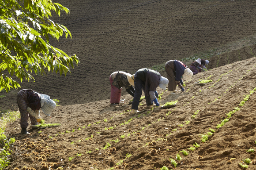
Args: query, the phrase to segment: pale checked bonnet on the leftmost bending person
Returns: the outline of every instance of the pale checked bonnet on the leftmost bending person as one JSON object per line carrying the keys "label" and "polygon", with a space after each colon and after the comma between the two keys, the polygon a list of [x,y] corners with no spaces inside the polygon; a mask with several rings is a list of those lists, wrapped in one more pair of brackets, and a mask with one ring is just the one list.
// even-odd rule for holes
{"label": "pale checked bonnet on the leftmost bending person", "polygon": [[41,109],[45,113],[45,115],[50,116],[53,109],[56,107],[55,101],[50,99],[50,96],[47,94],[41,94]]}

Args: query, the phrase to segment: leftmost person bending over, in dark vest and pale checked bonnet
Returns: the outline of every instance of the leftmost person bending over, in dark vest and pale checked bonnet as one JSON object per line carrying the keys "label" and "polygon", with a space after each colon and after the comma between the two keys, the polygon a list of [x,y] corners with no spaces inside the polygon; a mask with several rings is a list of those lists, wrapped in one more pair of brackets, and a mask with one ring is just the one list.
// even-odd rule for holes
{"label": "leftmost person bending over, in dark vest and pale checked bonnet", "polygon": [[30,118],[31,125],[37,125],[41,121],[40,109],[45,115],[50,116],[56,103],[50,96],[40,94],[31,89],[20,90],[17,94],[17,103],[20,112],[20,127],[22,134],[30,134],[26,131],[28,126],[27,120]]}

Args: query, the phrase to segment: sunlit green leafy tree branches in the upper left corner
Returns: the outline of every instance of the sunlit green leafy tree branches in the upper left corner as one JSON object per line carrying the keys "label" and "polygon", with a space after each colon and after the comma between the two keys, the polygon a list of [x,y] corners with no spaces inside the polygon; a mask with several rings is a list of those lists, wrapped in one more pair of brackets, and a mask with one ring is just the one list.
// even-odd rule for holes
{"label": "sunlit green leafy tree branches in the upper left corner", "polygon": [[72,38],[64,25],[49,19],[51,11],[69,13],[51,0],[0,1],[0,91],[20,87],[11,76],[34,80],[31,73],[43,75],[44,68],[66,76],[79,63],[75,54],[68,56],[49,43],[50,37],[59,40],[63,34]]}

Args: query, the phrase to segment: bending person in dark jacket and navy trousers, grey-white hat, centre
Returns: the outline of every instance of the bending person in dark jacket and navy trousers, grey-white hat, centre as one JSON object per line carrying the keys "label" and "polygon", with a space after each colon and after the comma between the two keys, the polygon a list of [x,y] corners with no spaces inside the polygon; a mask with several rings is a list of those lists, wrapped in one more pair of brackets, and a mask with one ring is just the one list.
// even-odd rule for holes
{"label": "bending person in dark jacket and navy trousers, grey-white hat, centre", "polygon": [[134,75],[128,76],[130,84],[134,85],[135,93],[132,101],[132,112],[138,112],[139,100],[142,95],[142,90],[145,93],[145,99],[147,105],[153,105],[153,101],[156,106],[160,104],[157,101],[158,93],[156,88],[159,86],[163,90],[166,89],[168,80],[162,77],[159,72],[151,69],[139,69]]}

